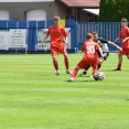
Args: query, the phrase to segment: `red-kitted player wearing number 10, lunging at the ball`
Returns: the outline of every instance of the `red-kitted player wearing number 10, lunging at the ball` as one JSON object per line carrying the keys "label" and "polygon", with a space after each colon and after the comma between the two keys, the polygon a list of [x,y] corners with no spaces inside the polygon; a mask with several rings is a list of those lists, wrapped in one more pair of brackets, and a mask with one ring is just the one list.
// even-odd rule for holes
{"label": "red-kitted player wearing number 10, lunging at the ball", "polygon": [[98,57],[98,52],[100,52],[101,58],[104,57],[103,51],[100,46],[94,42],[94,35],[92,33],[86,34],[86,42],[82,46],[82,51],[85,53],[83,58],[78,62],[77,66],[74,68],[73,74],[71,75],[71,78],[68,82],[73,82],[74,78],[76,77],[79,68],[86,68],[89,65],[93,67],[93,75],[95,80],[98,80],[98,72],[97,72],[97,66],[99,62]]}

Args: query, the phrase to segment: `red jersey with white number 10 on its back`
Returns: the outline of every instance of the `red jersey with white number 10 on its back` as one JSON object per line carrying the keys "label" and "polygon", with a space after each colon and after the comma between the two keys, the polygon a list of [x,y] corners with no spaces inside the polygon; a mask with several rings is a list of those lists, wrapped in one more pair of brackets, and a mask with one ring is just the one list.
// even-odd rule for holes
{"label": "red jersey with white number 10 on its back", "polygon": [[99,45],[94,41],[87,41],[83,44],[82,51],[85,53],[84,57],[88,60],[98,60]]}

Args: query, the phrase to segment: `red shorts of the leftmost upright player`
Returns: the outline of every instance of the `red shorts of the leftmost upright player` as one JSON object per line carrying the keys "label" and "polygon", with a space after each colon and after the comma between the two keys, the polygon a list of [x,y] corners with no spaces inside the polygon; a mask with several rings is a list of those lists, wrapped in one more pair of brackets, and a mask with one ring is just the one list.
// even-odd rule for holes
{"label": "red shorts of the leftmost upright player", "polygon": [[58,55],[58,54],[64,54],[64,53],[66,53],[66,49],[64,44],[61,47],[57,47],[57,46],[51,47],[52,55]]}

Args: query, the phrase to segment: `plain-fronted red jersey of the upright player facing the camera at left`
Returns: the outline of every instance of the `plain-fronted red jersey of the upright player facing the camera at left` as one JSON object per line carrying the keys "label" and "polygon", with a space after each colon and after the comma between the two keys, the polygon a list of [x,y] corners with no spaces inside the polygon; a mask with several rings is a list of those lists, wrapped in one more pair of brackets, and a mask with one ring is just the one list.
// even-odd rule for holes
{"label": "plain-fronted red jersey of the upright player facing the camera at left", "polygon": [[65,29],[61,25],[55,26],[52,25],[49,28],[49,32],[47,34],[51,36],[51,46],[56,46],[56,47],[61,47],[63,44],[63,36],[66,37],[67,36],[67,32],[65,31]]}

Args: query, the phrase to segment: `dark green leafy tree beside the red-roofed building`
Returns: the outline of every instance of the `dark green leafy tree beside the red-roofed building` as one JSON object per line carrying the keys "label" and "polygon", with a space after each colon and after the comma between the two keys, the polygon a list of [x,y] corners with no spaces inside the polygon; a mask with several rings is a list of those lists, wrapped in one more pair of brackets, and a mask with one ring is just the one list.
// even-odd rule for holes
{"label": "dark green leafy tree beside the red-roofed building", "polygon": [[129,0],[100,0],[98,21],[120,22],[122,18],[129,20]]}

